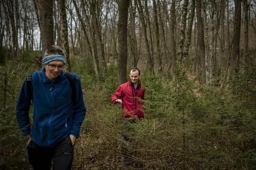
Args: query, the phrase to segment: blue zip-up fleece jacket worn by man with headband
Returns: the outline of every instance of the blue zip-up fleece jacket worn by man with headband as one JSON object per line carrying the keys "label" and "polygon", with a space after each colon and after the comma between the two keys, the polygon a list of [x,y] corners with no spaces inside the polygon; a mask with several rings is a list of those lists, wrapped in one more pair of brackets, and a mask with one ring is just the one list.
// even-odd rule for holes
{"label": "blue zip-up fleece jacket worn by man with headband", "polygon": [[32,75],[33,85],[33,126],[29,123],[31,105],[30,90],[26,79],[21,87],[16,105],[16,117],[21,131],[31,134],[31,139],[39,146],[52,147],[57,142],[72,134],[79,137],[81,124],[85,118],[86,108],[78,75],[75,78],[76,92],[72,100],[72,89],[64,71],[53,81],[42,71]]}

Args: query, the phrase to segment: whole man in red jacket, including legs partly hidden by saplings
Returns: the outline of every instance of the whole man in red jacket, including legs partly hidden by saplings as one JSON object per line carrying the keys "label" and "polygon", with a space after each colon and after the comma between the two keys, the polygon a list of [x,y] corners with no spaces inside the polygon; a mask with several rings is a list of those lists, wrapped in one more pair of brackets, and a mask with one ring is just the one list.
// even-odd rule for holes
{"label": "whole man in red jacket, including legs partly hidden by saplings", "polygon": [[[141,120],[144,118],[144,112],[142,108],[142,102],[140,99],[144,100],[145,89],[140,81],[140,69],[133,67],[130,69],[130,80],[118,87],[118,90],[111,96],[111,100],[114,104],[122,104],[121,116],[123,116],[123,125],[125,132],[123,132],[123,137],[125,141],[133,143],[134,141],[130,138],[131,128],[130,123],[135,123],[136,117]],[[128,119],[130,118],[130,119]],[[131,144],[132,145],[132,144]],[[133,160],[131,155],[134,152],[130,152],[125,145],[122,146],[123,153],[125,156],[124,165],[133,165]]]}

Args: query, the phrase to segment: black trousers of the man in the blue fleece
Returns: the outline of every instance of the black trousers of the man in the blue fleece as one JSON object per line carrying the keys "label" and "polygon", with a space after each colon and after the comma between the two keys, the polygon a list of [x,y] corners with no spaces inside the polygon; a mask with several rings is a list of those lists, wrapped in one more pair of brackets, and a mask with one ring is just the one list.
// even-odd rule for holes
{"label": "black trousers of the man in the blue fleece", "polygon": [[29,163],[34,170],[71,170],[74,158],[74,146],[70,136],[59,141],[55,146],[47,148],[38,146],[32,140],[27,146]]}

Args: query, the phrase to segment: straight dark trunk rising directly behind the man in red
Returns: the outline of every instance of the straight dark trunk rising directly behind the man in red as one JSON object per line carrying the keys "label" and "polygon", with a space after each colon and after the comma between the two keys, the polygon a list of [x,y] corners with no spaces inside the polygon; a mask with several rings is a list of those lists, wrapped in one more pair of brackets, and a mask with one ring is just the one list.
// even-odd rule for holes
{"label": "straight dark trunk rising directly behind the man in red", "polygon": [[125,83],[127,69],[127,22],[130,0],[119,2],[118,16],[118,82]]}

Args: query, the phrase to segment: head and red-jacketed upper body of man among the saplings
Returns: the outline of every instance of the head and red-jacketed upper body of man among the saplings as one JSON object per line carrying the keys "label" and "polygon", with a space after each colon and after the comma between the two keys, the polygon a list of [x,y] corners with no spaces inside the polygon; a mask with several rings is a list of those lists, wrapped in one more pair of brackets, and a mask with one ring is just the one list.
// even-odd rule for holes
{"label": "head and red-jacketed upper body of man among the saplings", "polygon": [[144,118],[142,102],[144,100],[145,89],[140,81],[140,69],[133,67],[130,69],[130,80],[121,84],[116,92],[111,96],[114,104],[122,104],[121,116],[124,118],[138,117],[139,120]]}

